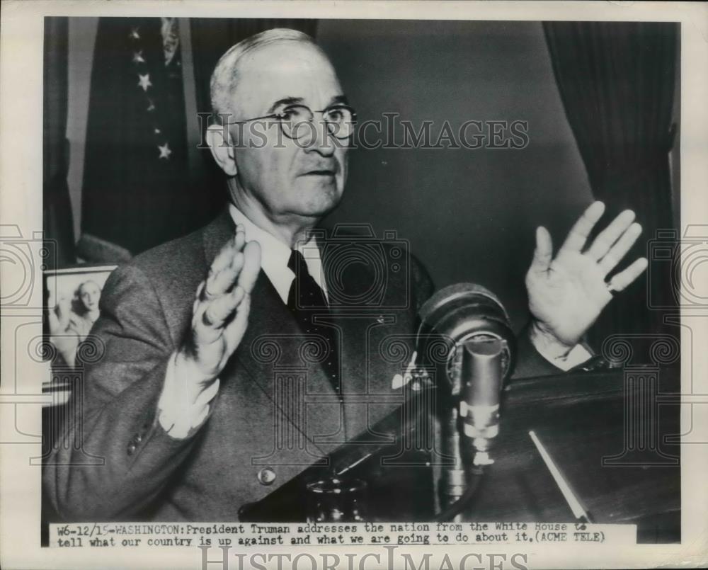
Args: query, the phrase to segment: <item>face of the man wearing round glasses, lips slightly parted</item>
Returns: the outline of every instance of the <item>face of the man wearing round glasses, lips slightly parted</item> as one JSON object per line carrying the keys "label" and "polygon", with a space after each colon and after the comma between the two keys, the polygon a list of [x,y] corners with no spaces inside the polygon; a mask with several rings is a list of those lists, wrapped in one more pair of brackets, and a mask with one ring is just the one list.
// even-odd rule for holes
{"label": "face of the man wearing round glasses, lips slightly parted", "polygon": [[[297,104],[313,111],[343,101],[336,72],[315,47],[279,42],[244,56],[234,93],[234,118],[246,120],[278,113]],[[326,134],[321,113],[312,129],[302,130],[311,144],[283,135],[277,121],[232,125],[236,137],[236,174],[241,191],[271,216],[321,217],[341,200],[347,176],[348,141]],[[251,148],[253,145],[253,148]]]}

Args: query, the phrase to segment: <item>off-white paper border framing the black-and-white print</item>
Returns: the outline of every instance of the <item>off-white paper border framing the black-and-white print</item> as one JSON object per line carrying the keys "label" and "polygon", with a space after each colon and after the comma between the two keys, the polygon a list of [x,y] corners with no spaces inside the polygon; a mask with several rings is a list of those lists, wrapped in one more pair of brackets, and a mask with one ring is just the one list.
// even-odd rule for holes
{"label": "off-white paper border framing the black-and-white print", "polygon": [[[682,55],[681,222],[708,224],[708,6],[692,3],[615,2],[224,2],[224,1],[4,1],[0,30],[0,221],[18,224],[25,234],[42,227],[42,40],[43,16],[170,16],[181,17],[299,17],[391,19],[489,19],[489,20],[607,20],[680,21]],[[7,275],[0,275],[5,280]],[[40,280],[41,282],[41,280]],[[1,282],[0,282],[1,283]],[[36,291],[40,301],[41,291]],[[705,314],[705,312],[704,312]],[[1,370],[14,373],[10,319],[0,331],[4,358]],[[19,322],[19,320],[17,321]],[[693,319],[684,327],[682,341],[693,354],[683,353],[683,370],[693,369],[695,392],[708,394],[708,321]],[[692,360],[690,360],[692,359]],[[36,374],[31,363],[18,363],[18,374]],[[4,374],[4,377],[8,377]],[[38,377],[38,376],[36,376]],[[683,377],[683,391],[690,381]],[[32,382],[30,382],[32,384]],[[3,391],[6,392],[6,384]],[[36,391],[37,386],[28,386]],[[705,401],[703,397],[703,401]],[[700,398],[695,399],[700,401]],[[5,407],[5,406],[2,406]],[[687,406],[683,417],[690,414]],[[40,406],[28,406],[23,421],[40,425]],[[705,404],[694,404],[692,429],[697,439],[708,441]],[[0,428],[6,433],[5,421]],[[39,433],[39,431],[38,431]],[[1,440],[1,438],[0,438]],[[28,457],[38,445],[0,445],[0,540],[4,568],[182,568],[199,567],[195,549],[166,552],[99,549],[96,552],[40,549],[40,470]],[[543,547],[530,549],[530,567],[569,568],[647,566],[705,566],[708,564],[707,445],[683,445],[683,494],[681,545],[637,545],[626,549]],[[316,547],[312,547],[314,551]],[[451,549],[446,549],[450,552]],[[462,547],[460,549],[462,551]],[[491,549],[476,549],[479,552]],[[505,549],[494,547],[495,552]],[[508,550],[508,549],[507,549]],[[274,549],[275,551],[275,549]],[[467,549],[469,552],[469,548]],[[336,551],[333,551],[336,552]],[[424,549],[411,548],[420,557]],[[511,551],[509,550],[511,553]],[[93,556],[88,556],[93,554]],[[430,567],[438,568],[445,553],[436,551]],[[346,559],[345,559],[346,560]],[[235,559],[233,560],[235,562]],[[275,562],[274,562],[275,564]],[[216,566],[212,565],[210,568]],[[237,567],[235,564],[229,567]]]}

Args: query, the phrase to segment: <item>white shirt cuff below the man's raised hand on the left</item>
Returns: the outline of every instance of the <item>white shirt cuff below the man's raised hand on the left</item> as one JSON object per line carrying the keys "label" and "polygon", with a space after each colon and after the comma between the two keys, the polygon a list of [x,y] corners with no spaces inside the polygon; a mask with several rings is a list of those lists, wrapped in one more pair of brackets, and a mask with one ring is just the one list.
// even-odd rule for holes
{"label": "white shirt cuff below the man's raised hand on the left", "polygon": [[205,423],[212,400],[219,392],[219,379],[199,382],[198,370],[179,353],[167,363],[165,383],[157,402],[160,426],[172,438],[185,439]]}

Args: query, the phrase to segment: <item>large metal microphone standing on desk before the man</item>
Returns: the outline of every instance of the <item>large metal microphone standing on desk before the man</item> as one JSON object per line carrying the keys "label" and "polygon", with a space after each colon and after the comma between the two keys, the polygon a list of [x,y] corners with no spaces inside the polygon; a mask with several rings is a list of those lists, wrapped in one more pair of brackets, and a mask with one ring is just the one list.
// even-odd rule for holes
{"label": "large metal microphone standing on desk before the man", "polygon": [[441,520],[449,520],[474,493],[479,480],[474,476],[493,463],[489,450],[499,433],[501,388],[513,371],[516,341],[501,301],[474,283],[436,292],[420,317],[419,365],[430,367],[426,355],[429,359],[440,339],[446,347],[438,387],[447,387],[441,428],[442,452],[449,460],[440,493],[449,506]]}

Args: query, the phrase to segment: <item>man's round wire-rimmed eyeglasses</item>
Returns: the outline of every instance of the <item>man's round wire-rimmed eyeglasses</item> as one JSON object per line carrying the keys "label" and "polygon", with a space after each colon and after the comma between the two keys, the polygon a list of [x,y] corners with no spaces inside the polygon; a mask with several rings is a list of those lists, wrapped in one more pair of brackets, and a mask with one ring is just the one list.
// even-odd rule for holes
{"label": "man's round wire-rimmed eyeglasses", "polygon": [[[314,140],[316,135],[314,113],[321,113],[327,125],[327,131],[336,139],[348,139],[354,134],[356,113],[348,105],[334,105],[324,110],[313,111],[306,105],[288,105],[278,113],[263,115],[239,121],[230,121],[229,125],[239,125],[255,120],[273,119],[278,121],[282,134],[289,139],[302,143],[304,139]],[[309,144],[309,143],[305,143]]]}

